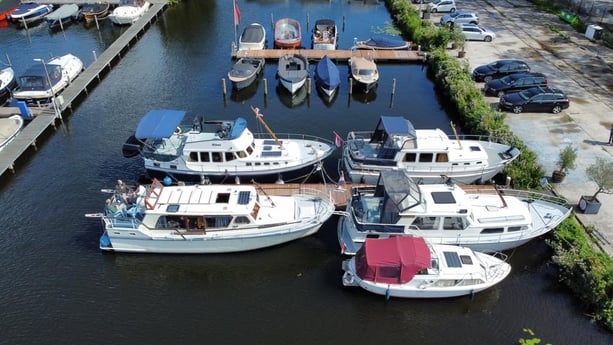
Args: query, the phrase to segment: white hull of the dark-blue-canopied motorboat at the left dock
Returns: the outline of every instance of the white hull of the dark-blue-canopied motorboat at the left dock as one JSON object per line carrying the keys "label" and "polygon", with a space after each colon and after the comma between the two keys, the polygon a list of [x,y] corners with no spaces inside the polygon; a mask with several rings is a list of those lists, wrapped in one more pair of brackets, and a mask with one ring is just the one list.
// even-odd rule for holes
{"label": "white hull of the dark-blue-canopied motorboat at the left dock", "polygon": [[70,85],[70,83],[75,80],[84,69],[83,62],[72,54],[66,54],[53,58],[46,62],[46,64],[61,66],[61,79],[57,83],[53,84],[50,89],[46,90],[20,90],[18,88],[13,93],[13,98],[31,103],[47,102],[50,98],[57,95],[68,85]]}

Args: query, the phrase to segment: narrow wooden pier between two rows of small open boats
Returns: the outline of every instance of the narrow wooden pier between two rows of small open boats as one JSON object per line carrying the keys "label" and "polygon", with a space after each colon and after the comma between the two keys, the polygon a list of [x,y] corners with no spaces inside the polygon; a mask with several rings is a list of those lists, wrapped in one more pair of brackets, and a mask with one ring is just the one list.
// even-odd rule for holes
{"label": "narrow wooden pier between two rows of small open boats", "polygon": [[288,54],[300,54],[307,59],[320,60],[325,55],[332,60],[349,60],[352,57],[372,58],[375,61],[405,61],[424,62],[427,53],[417,50],[384,50],[384,49],[357,49],[357,50],[321,50],[321,49],[255,49],[238,50],[233,53],[236,58],[253,57],[264,59],[279,59]]}

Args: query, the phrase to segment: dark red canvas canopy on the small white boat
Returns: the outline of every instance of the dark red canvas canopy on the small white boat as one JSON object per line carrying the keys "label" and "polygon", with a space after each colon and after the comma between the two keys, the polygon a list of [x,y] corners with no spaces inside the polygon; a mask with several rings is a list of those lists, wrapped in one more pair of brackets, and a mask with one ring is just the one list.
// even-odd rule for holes
{"label": "dark red canvas canopy on the small white boat", "polygon": [[355,264],[363,280],[403,284],[430,267],[430,250],[421,237],[367,239],[356,253]]}

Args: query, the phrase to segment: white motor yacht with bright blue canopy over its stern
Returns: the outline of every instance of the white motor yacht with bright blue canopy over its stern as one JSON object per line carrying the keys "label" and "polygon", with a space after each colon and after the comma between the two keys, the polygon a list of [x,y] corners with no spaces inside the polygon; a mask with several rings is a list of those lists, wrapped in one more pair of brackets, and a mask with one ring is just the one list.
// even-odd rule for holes
{"label": "white motor yacht with bright blue canopy over its stern", "polygon": [[273,133],[263,115],[252,108],[269,131],[252,133],[247,120],[194,119],[181,126],[185,112],[152,110],[124,144],[124,156],[140,154],[150,172],[175,178],[208,179],[212,182],[286,182],[304,179],[321,166],[336,146],[331,140],[304,134]]}

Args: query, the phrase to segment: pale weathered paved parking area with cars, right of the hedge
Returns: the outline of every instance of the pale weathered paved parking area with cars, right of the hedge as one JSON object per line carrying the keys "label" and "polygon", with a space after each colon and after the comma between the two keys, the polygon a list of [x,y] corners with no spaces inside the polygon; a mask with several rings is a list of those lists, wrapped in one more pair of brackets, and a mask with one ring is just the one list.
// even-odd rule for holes
{"label": "pale weathered paved parking area with cars, right of the hedge", "polygon": [[[570,108],[560,114],[509,113],[505,121],[537,153],[547,177],[556,168],[560,149],[568,144],[576,147],[576,169],[552,187],[573,205],[581,195],[592,195],[597,187],[585,169],[596,157],[613,160],[613,147],[607,145],[613,123],[613,50],[592,43],[557,16],[538,12],[524,0],[456,3],[459,10],[476,12],[481,25],[496,32],[491,43],[467,43],[465,59],[471,70],[497,59],[522,59],[533,71],[545,73],[552,86],[571,98]],[[438,23],[440,17],[433,14],[431,20]],[[457,54],[452,50],[449,53]],[[494,97],[486,99],[492,104],[498,102]],[[613,195],[601,193],[598,199],[602,202],[598,214],[578,211],[577,218],[596,228],[601,246],[613,256]]]}

